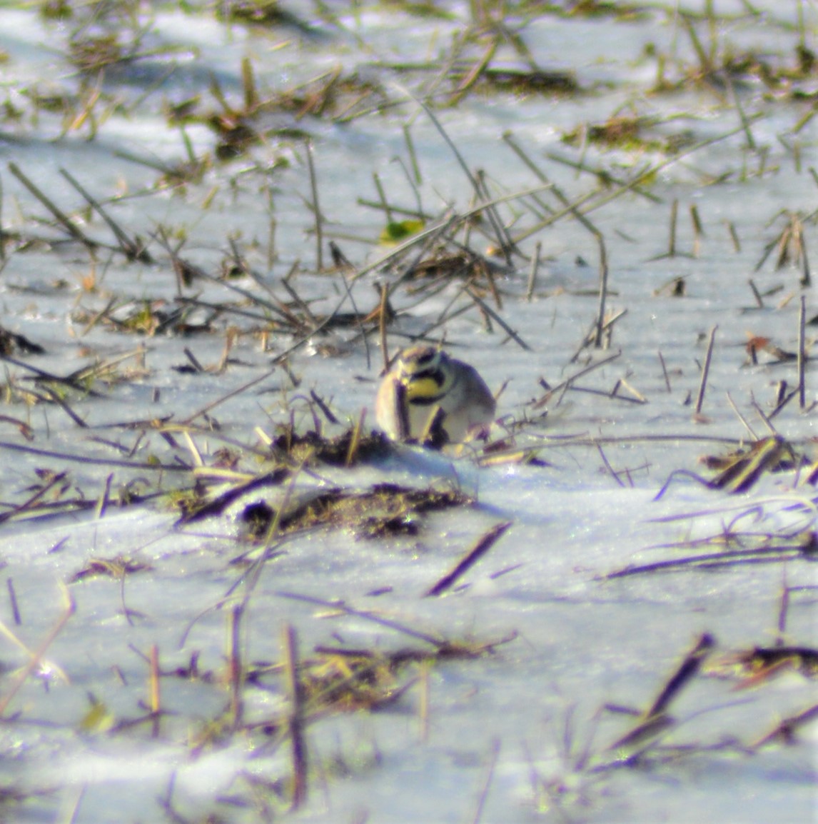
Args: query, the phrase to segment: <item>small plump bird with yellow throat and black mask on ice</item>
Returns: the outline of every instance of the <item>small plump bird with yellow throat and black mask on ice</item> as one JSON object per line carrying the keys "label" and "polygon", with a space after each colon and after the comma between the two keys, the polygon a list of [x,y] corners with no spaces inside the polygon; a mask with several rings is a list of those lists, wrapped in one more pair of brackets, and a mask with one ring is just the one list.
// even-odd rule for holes
{"label": "small plump bird with yellow throat and black mask on ice", "polygon": [[376,399],[378,426],[393,440],[460,443],[484,435],[496,404],[477,370],[433,346],[405,349]]}

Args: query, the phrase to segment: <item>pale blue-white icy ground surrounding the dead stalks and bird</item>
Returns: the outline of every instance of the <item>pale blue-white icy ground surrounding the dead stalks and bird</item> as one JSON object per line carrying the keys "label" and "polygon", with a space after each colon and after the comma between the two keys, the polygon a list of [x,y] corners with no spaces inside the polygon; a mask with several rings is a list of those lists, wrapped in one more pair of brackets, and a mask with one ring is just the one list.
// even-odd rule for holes
{"label": "pale blue-white icy ground surrounding the dead stalks and bird", "polygon": [[[437,66],[469,13],[465,3],[444,4],[451,19],[353,5],[353,10],[335,12],[343,28],[316,21],[309,36],[286,26],[228,26],[203,12],[157,13],[148,45],[172,47],[171,56],[106,77],[105,90],[120,105],[99,124],[93,139],[81,129],[63,133],[60,117],[46,110],[36,121],[26,115],[0,125],[2,230],[44,239],[29,249],[9,246],[0,273],[0,326],[45,349],[37,356],[15,355],[23,366],[4,364],[4,391],[35,386],[26,364],[68,376],[128,356],[123,363],[131,370],[121,382],[95,382],[100,396],[69,397],[82,426],[57,403],[30,398],[27,405],[18,395],[14,402],[4,396],[0,406],[0,512],[11,513],[35,494],[36,485],[49,477],[37,471],[67,471],[68,497],[91,502],[100,499],[111,475],[112,498],[102,517],[90,507],[52,518],[20,513],[0,522],[2,572],[16,594],[20,625],[14,625],[10,600],[0,617],[16,638],[36,650],[63,615],[64,587],[76,603],[76,612],[44,650],[41,672],[28,678],[2,712],[0,780],[10,796],[9,820],[170,821],[171,809],[185,821],[214,820],[208,815],[259,820],[260,807],[250,800],[253,782],[286,784],[287,747],[265,744],[250,733],[221,739],[214,733],[208,746],[196,742],[229,701],[225,627],[235,601],[228,596],[243,592],[245,569],[231,562],[248,550],[238,540],[241,508],[267,493],[256,491],[225,513],[190,524],[178,523],[178,513],[164,498],[121,509],[113,501],[127,484],[136,493],[157,486],[166,492],[189,488],[196,452],[210,466],[222,446],[260,448],[256,428],[273,435],[291,415],[297,431],[305,431],[312,417],[303,399],[311,390],[330,403],[339,428],[354,423],[364,407],[372,410],[382,358],[377,335],[370,336],[367,352],[354,325],[314,335],[287,360],[299,381],[293,386],[273,358],[295,338],[273,332],[265,348],[258,329],[270,316],[260,304],[241,304],[255,317],[225,315],[210,321],[206,304],[239,306],[241,298],[230,283],[269,298],[247,277],[200,280],[186,290],[200,302],[188,322],[210,321],[216,334],[125,336],[112,325],[93,322],[110,301],[115,302],[111,316],[120,321],[139,302],[165,302],[170,310],[177,282],[168,255],[152,242],[157,259],[152,265],[126,263],[121,255],[108,260],[101,252],[92,264],[87,250],[64,242],[62,230],[46,225],[50,216],[42,204],[5,166],[16,163],[49,198],[81,213],[87,221],[83,229],[95,239],[110,242],[110,230],[98,216],[82,211],[85,204],[60,168],[70,170],[96,197],[109,198],[111,213],[132,234],[147,238],[165,227],[171,248],[173,238],[184,236],[186,260],[208,273],[216,274],[229,257],[233,238],[282,301],[288,300],[282,279],[301,261],[292,287],[316,315],[331,312],[344,301],[344,284],[337,274],[315,272],[303,141],[262,143],[175,190],[158,187],[160,172],[145,164],[171,166],[186,159],[183,135],[167,124],[162,103],[207,96],[215,77],[222,93],[238,105],[245,57],[253,63],[259,88],[269,93],[336,66],[409,87],[412,83],[397,68],[382,68],[381,61]],[[797,4],[790,9],[755,3],[768,9],[771,21],[743,14],[744,3],[724,5],[718,12],[731,16],[719,30],[724,48],[729,44],[736,53],[794,61],[799,24],[792,9]],[[803,6],[812,47],[815,8]],[[74,24],[45,22],[26,8],[4,8],[0,14],[0,49],[8,57],[2,82],[10,105],[24,105],[21,89],[36,87],[40,94],[74,90],[74,70],[63,56]],[[549,152],[573,162],[584,157],[623,179],[634,169],[661,162],[660,155],[644,148],[591,148],[581,157],[562,143],[564,132],[603,122],[619,107],[633,106],[640,115],[657,118],[657,133],[687,130],[692,143],[731,136],[662,166],[645,185],[661,203],[626,194],[588,215],[605,237],[609,313],[625,312],[615,322],[608,349],[583,346],[597,311],[598,247],[577,221],[560,221],[524,242],[523,250],[531,255],[540,241],[543,259],[531,301],[524,297],[524,265],[498,276],[502,308],[491,305],[527,349],[507,338],[496,322],[487,324],[474,306],[435,327],[452,301],[469,303],[460,281],[432,297],[409,289],[394,293],[400,314],[389,329],[390,350],[432,327],[433,339],[445,333],[452,353],[473,363],[493,390],[504,387],[493,438],[516,434],[517,445],[536,447],[544,465],[479,466],[468,448],[453,456],[407,446],[374,466],[317,466],[297,476],[294,489],[303,494],[390,482],[456,488],[475,503],[424,517],[412,537],[367,541],[346,529],[287,536],[280,554],[264,563],[247,604],[241,627],[245,662],[280,661],[285,625],[297,630],[305,656],[316,644],[423,647],[417,638],[382,623],[303,598],[338,599],[442,639],[507,642],[481,658],[415,672],[417,685],[380,712],[329,715],[311,723],[311,788],[299,820],[461,822],[481,815],[484,822],[807,822],[814,817],[815,724],[798,728],[787,746],[747,749],[782,719],[816,705],[814,681],[802,672],[784,672],[746,690],[735,690],[735,681],[697,677],[671,707],[680,723],[662,744],[680,745],[673,757],[648,754],[642,763],[628,766],[615,763],[615,752],[607,748],[633,726],[633,719],[601,707],[647,709],[701,634],[713,635],[718,653],[772,647],[779,634],[798,647],[815,648],[818,640],[816,574],[806,550],[786,562],[688,566],[605,579],[632,565],[718,552],[727,533],[737,536],[728,548],[755,546],[758,536],[780,546],[797,545],[810,534],[816,541],[816,485],[805,482],[809,463],[818,460],[815,322],[806,326],[804,408],[796,397],[771,422],[764,417],[776,408],[781,382],[786,382],[784,392],[797,386],[796,361],[761,350],[752,363],[746,349],[748,337],[755,335],[785,353],[797,352],[802,297],[808,321],[818,311],[814,285],[801,288],[801,272],[794,265],[775,269],[775,250],[754,271],[784,226],[782,210],[812,214],[804,233],[815,258],[818,189],[814,171],[808,170],[815,166],[816,120],[795,129],[814,106],[816,75],[806,101],[778,101],[764,88],[741,87],[744,113],[760,115],[748,127],[756,147],[750,151],[731,102],[735,90],[703,84],[669,95],[645,93],[656,77],[646,44],[661,52],[675,49],[675,59],[695,62],[684,31],[672,9],[635,21],[541,16],[521,30],[533,59],[551,70],[576,73],[582,94],[491,93],[437,110],[465,161],[485,171],[493,194],[540,182],[503,142],[507,130],[571,199],[591,190],[596,180],[549,160]],[[699,31],[705,35],[704,26]],[[512,50],[503,54],[514,62]],[[160,82],[171,63],[175,71]],[[141,100],[153,84],[159,91]],[[401,98],[394,86],[390,90]],[[423,172],[423,209],[433,215],[446,209],[465,212],[474,194],[470,183],[417,105],[404,103],[347,124],[281,115],[281,128],[304,129],[313,139],[325,232],[356,267],[389,251],[378,245],[383,215],[359,202],[377,199],[373,173],[391,203],[414,208],[413,190],[395,162],[395,157],[408,162],[403,125],[409,121]],[[213,133],[202,124],[186,127],[185,137],[194,154],[213,150]],[[668,256],[674,200],[679,203],[677,254]],[[555,201],[549,203],[556,210]],[[695,255],[691,206],[704,229]],[[512,213],[504,215],[511,219]],[[275,254],[269,264],[271,224]],[[738,250],[730,227],[740,239]],[[393,272],[376,268],[348,284],[357,310],[376,308],[373,287],[394,279]],[[677,279],[685,287],[679,296],[672,294]],[[761,304],[748,279],[763,295]],[[484,299],[489,302],[490,293]],[[348,302],[343,308],[353,311]],[[226,370],[178,370],[190,365],[185,349],[206,368],[219,363],[231,325],[238,338]],[[706,393],[701,414],[694,415],[712,330]],[[610,361],[547,404],[531,405],[544,396],[544,386],[558,386],[605,358]],[[229,396],[255,379],[255,386]],[[193,432],[190,443],[177,431],[170,433],[174,445],[144,423],[169,417],[201,424],[203,410],[217,401],[209,411],[210,428]],[[370,421],[371,411],[367,428]],[[124,426],[128,423],[134,426]],[[801,471],[765,473],[738,495],[684,475],[656,499],[672,472],[706,474],[699,456],[723,455],[742,442],[764,438],[768,423],[806,457]],[[33,440],[25,437],[26,425]],[[89,458],[97,462],[83,460]],[[253,460],[250,456],[242,468],[252,471]],[[157,470],[157,463],[167,470]],[[286,493],[278,488],[269,494],[280,501]],[[423,597],[501,522],[512,526],[453,592]],[[118,556],[149,569],[124,578],[74,579],[92,559]],[[786,627],[779,633],[783,589],[789,603]],[[147,655],[154,646],[167,676],[161,679],[166,716],[157,734],[150,722],[115,733],[96,728],[88,720],[92,706],[104,708],[114,723],[144,717],[150,693]],[[191,656],[200,672],[213,673],[212,680],[171,677],[177,667],[189,666]],[[11,638],[4,640],[0,700],[11,695],[15,671],[27,660],[26,651]],[[276,682],[265,681],[257,690],[246,687],[250,721],[276,717],[286,706],[283,686],[271,688],[271,683]],[[11,800],[15,795],[20,799]]]}

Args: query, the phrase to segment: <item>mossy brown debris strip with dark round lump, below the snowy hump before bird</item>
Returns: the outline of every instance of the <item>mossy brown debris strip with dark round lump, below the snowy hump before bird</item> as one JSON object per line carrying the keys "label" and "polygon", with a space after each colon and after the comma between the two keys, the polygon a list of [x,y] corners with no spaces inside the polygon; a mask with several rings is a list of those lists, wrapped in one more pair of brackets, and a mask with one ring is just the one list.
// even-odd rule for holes
{"label": "mossy brown debris strip with dark round lump, below the snowy hump before bird", "polygon": [[[474,500],[450,490],[410,489],[396,484],[376,484],[366,492],[330,489],[292,505],[279,517],[278,528],[287,533],[315,527],[349,529],[359,538],[417,535],[419,516]],[[252,541],[267,536],[276,510],[266,501],[250,503],[241,513],[245,533]]]}

